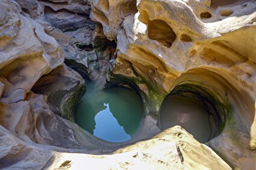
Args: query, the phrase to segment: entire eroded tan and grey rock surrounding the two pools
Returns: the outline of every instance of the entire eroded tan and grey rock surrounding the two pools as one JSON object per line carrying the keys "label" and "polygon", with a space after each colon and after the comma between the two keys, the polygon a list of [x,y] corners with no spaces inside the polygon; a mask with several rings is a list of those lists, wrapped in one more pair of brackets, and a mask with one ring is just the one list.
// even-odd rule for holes
{"label": "entire eroded tan and grey rock surrounding the two pools", "polygon": [[[255,1],[3,0],[0,11],[0,168],[256,169]],[[82,77],[138,91],[133,141],[72,123]],[[162,127],[173,93],[207,101],[208,142]]]}

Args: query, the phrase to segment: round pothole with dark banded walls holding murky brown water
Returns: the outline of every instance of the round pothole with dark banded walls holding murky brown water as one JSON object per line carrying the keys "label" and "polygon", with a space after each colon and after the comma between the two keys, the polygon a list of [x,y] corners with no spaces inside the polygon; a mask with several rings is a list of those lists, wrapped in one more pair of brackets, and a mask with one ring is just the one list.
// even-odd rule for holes
{"label": "round pothole with dark banded walls holding murky brown water", "polygon": [[160,108],[161,128],[179,125],[205,143],[223,130],[227,114],[209,91],[190,84],[178,85]]}

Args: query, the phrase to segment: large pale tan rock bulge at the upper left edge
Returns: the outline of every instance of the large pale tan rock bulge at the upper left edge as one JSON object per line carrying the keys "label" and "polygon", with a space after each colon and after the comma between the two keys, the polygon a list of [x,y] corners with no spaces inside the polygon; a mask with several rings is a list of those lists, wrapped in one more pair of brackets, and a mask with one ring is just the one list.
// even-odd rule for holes
{"label": "large pale tan rock bulge at the upper left edge", "polygon": [[3,1],[0,7],[10,17],[1,25],[6,30],[1,31],[0,79],[5,85],[2,100],[13,103],[24,100],[40,76],[60,65],[64,53],[54,38],[43,31],[43,26],[19,14],[15,2]]}

